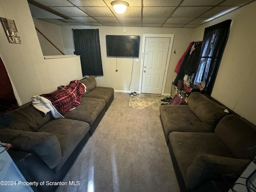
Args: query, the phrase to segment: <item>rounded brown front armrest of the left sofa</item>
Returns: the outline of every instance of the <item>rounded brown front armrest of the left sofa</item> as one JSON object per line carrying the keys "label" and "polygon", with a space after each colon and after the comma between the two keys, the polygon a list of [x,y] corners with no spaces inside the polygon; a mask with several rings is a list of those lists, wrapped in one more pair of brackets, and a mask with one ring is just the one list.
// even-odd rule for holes
{"label": "rounded brown front armrest of the left sofa", "polygon": [[61,159],[60,143],[52,133],[0,129],[0,141],[10,143],[14,150],[38,155],[49,168],[56,167]]}

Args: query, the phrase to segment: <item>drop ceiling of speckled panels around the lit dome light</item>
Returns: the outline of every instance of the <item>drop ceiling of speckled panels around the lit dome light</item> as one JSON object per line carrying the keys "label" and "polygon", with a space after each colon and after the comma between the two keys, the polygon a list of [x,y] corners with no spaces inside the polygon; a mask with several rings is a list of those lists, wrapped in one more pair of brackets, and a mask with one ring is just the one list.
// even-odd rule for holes
{"label": "drop ceiling of speckled panels around the lit dome light", "polygon": [[124,0],[129,6],[122,15],[114,11],[112,1],[28,0],[28,3],[34,18],[57,25],[195,28],[255,0]]}

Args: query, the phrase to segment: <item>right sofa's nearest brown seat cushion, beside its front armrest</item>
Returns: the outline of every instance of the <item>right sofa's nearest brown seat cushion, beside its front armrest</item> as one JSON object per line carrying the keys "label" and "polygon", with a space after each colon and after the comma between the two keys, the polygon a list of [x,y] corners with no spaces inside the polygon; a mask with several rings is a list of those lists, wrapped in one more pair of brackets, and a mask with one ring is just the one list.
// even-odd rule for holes
{"label": "right sofa's nearest brown seat cushion, beside its front armrest", "polygon": [[169,139],[185,183],[188,167],[197,155],[211,154],[232,157],[215,133],[171,132]]}

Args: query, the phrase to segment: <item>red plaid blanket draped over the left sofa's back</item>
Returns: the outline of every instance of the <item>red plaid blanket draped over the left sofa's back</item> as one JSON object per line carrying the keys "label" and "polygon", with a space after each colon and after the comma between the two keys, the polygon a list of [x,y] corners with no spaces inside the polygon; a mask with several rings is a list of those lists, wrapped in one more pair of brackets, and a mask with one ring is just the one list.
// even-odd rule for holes
{"label": "red plaid blanket draped over the left sofa's back", "polygon": [[50,100],[56,110],[63,115],[80,104],[84,92],[84,84],[79,80],[74,80],[60,90],[40,96]]}

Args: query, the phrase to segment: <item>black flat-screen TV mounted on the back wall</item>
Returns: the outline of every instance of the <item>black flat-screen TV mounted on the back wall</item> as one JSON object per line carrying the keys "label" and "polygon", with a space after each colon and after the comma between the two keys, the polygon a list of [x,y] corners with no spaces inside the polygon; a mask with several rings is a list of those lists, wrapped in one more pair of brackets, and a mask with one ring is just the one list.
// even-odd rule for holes
{"label": "black flat-screen TV mounted on the back wall", "polygon": [[140,36],[106,35],[107,56],[139,57]]}

